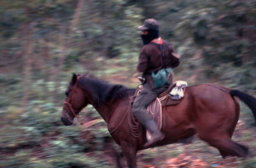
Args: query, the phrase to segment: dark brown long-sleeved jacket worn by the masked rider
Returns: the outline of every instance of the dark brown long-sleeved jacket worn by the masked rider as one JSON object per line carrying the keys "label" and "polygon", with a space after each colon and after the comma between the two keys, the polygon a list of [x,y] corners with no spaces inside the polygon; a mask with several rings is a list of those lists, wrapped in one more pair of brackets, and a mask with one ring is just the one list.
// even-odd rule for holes
{"label": "dark brown long-sleeved jacket worn by the masked rider", "polygon": [[[164,42],[164,52],[165,52],[165,67],[164,68],[175,68],[180,64],[180,57],[172,52],[172,47],[168,42]],[[171,51],[170,51],[171,50]],[[143,46],[140,51],[139,62],[137,64],[137,70],[148,74],[151,72],[158,71],[162,68],[162,54],[159,48],[152,44],[148,43]]]}

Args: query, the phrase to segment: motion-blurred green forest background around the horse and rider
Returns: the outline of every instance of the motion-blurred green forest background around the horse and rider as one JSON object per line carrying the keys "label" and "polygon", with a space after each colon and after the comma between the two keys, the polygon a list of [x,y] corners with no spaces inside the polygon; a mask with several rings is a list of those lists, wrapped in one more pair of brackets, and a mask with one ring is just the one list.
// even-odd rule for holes
{"label": "motion-blurred green forest background around the horse and rider", "polygon": [[[71,73],[122,83],[135,70],[138,26],[160,23],[181,56],[174,80],[216,83],[256,96],[255,0],[0,1],[0,167],[116,167],[120,148],[98,113],[92,134],[60,121]],[[124,83],[138,87],[139,73]],[[85,108],[82,114],[86,110]],[[196,137],[139,151],[139,167],[256,167],[256,129],[242,105],[234,140],[252,157],[222,160]],[[124,158],[120,157],[123,165]]]}

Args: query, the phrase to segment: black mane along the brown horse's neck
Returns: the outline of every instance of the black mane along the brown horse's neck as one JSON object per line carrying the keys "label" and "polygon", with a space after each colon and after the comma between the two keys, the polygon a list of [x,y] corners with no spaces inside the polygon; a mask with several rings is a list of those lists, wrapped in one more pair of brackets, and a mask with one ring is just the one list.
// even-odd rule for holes
{"label": "black mane along the brown horse's neck", "polygon": [[129,98],[129,95],[132,96],[135,93],[134,88],[126,88],[123,85],[110,84],[106,81],[81,77],[79,83],[83,88],[89,90],[92,95],[94,95],[95,103],[112,103],[115,100],[122,98]]}

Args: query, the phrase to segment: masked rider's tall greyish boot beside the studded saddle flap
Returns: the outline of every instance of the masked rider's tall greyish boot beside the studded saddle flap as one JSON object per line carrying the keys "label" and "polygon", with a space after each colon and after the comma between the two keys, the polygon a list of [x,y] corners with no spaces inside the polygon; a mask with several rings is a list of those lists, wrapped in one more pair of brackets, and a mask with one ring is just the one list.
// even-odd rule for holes
{"label": "masked rider's tall greyish boot beside the studded saddle flap", "polygon": [[143,148],[148,148],[153,143],[164,139],[164,134],[161,131],[159,131],[158,126],[156,125],[153,119],[148,120],[144,126],[148,129],[148,131],[152,135],[152,138],[147,143],[144,144]]}

